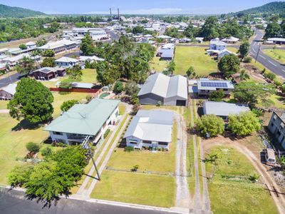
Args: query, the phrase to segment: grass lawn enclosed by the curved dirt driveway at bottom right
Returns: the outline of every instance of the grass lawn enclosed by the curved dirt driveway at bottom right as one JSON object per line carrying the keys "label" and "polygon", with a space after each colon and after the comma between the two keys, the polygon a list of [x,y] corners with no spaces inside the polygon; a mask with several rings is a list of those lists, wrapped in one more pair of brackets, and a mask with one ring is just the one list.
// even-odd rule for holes
{"label": "grass lawn enclosed by the curved dirt driveway at bottom right", "polygon": [[268,191],[247,179],[257,172],[246,156],[220,146],[210,153],[219,157],[217,166],[206,163],[207,175],[213,175],[208,183],[213,213],[278,213]]}

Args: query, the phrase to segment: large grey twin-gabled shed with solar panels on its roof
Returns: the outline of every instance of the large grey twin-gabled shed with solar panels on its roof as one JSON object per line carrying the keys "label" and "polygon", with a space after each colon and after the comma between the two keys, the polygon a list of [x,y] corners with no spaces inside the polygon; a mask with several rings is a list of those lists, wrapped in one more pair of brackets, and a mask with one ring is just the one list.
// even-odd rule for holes
{"label": "large grey twin-gabled shed with solar panels on its roof", "polygon": [[160,101],[165,106],[186,106],[187,78],[162,73],[150,75],[140,88],[138,98],[141,104],[156,105]]}

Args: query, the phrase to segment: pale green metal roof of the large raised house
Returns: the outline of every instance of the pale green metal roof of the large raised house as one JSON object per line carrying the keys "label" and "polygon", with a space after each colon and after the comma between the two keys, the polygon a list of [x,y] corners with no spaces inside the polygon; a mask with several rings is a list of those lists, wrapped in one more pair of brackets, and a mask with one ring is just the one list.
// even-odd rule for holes
{"label": "pale green metal roof of the large raised house", "polygon": [[43,130],[95,136],[119,103],[96,98],[88,104],[76,104]]}

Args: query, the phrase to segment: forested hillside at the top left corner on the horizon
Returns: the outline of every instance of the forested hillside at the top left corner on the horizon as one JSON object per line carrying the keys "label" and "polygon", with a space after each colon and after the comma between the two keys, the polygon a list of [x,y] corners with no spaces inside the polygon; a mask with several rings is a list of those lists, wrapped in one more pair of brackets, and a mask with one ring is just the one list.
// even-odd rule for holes
{"label": "forested hillside at the top left corner on the horizon", "polygon": [[24,9],[16,6],[6,6],[4,4],[0,4],[0,17],[16,17],[16,18],[24,18],[28,16],[43,16],[43,14],[38,11],[32,11],[30,9]]}

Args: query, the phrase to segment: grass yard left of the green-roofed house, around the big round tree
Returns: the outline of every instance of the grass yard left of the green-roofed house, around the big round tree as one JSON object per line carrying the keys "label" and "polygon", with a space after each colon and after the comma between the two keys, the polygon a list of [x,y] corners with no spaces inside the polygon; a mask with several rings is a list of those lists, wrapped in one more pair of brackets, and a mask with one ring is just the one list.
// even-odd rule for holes
{"label": "grass yard left of the green-roofed house, around the big round tree", "polygon": [[[61,113],[60,106],[63,101],[70,99],[81,101],[86,98],[86,95],[87,93],[61,94],[53,92],[53,117],[57,117]],[[48,132],[43,131],[43,127],[33,128],[27,123],[24,123],[21,129],[14,131],[14,128],[19,127],[19,124],[19,121],[11,118],[9,113],[0,113],[0,183],[3,184],[7,184],[6,175],[11,168],[24,163],[16,161],[16,158],[26,156],[26,143],[29,141],[41,143],[48,137]]]}

